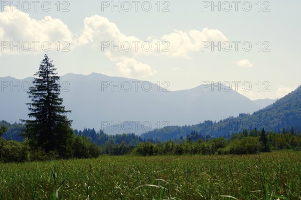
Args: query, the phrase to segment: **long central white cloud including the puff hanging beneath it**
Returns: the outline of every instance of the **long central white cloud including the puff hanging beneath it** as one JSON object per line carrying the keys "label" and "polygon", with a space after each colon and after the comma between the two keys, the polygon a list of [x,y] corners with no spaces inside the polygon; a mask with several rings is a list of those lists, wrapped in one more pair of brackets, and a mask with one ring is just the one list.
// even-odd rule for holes
{"label": "long central white cloud including the puff hanging beneath it", "polygon": [[[106,17],[93,15],[85,18],[82,34],[75,43],[78,46],[91,43],[93,48],[101,49],[110,60],[117,62],[116,65],[123,75],[148,76],[155,74],[156,71],[149,65],[137,61],[138,55],[189,58],[188,52],[200,50],[202,41],[226,39],[221,31],[204,28],[203,31],[174,30],[160,38],[148,37],[147,41],[143,41],[136,36],[123,34],[117,25]],[[143,42],[144,46],[142,46]],[[112,44],[118,45],[120,49],[117,47],[112,49]],[[149,50],[143,49],[148,46],[150,46]],[[129,59],[130,57],[132,59]]]}

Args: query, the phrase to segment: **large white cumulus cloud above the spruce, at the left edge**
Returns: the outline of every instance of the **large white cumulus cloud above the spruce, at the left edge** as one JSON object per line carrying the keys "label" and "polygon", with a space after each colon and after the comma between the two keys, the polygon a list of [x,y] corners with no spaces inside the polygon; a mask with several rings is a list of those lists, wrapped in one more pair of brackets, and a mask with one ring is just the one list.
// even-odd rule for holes
{"label": "large white cumulus cloud above the spruce, at the left edge", "polygon": [[[51,44],[51,47],[45,45],[44,49],[57,50],[58,41],[60,45],[64,41],[69,45],[72,37],[72,32],[60,19],[45,16],[37,20],[17,9],[12,11],[11,7],[5,7],[4,11],[0,12],[0,40],[2,41],[0,55],[43,50],[43,42]],[[20,49],[13,48],[13,45],[17,45]]]}

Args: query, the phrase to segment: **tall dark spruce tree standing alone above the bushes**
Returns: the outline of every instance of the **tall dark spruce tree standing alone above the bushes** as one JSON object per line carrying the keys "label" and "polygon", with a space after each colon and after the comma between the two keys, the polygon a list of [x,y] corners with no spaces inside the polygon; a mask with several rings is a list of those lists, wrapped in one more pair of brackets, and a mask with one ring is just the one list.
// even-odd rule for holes
{"label": "tall dark spruce tree standing alone above the bushes", "polygon": [[24,136],[29,138],[34,147],[42,147],[46,152],[58,151],[60,156],[70,156],[73,130],[71,120],[66,116],[63,98],[60,98],[60,77],[47,54],[40,64],[39,71],[34,74],[32,86],[28,94],[31,103],[27,103],[33,120],[26,123]]}

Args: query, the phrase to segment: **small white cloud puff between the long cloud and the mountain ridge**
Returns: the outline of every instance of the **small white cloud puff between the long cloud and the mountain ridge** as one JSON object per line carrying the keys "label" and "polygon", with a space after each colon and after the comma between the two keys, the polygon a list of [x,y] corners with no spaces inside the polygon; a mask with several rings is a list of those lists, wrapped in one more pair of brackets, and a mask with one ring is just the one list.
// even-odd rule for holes
{"label": "small white cloud puff between the long cloud and the mountain ridge", "polygon": [[152,70],[152,67],[150,67],[148,64],[139,62],[134,58],[123,58],[123,60],[118,62],[116,66],[123,75],[129,77],[144,77],[157,73],[157,70]]}

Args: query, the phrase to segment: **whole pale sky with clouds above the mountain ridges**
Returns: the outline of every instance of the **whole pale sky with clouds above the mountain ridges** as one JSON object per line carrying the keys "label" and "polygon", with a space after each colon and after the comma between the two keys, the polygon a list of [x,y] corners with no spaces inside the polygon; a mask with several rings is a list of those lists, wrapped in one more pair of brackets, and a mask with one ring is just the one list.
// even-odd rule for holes
{"label": "whole pale sky with clouds above the mountain ridges", "polygon": [[[47,53],[59,75],[92,72],[190,89],[221,82],[279,98],[301,72],[299,0],[0,1],[0,77]],[[212,88],[223,89],[223,88]]]}

